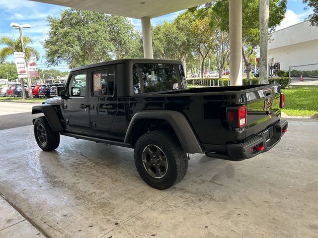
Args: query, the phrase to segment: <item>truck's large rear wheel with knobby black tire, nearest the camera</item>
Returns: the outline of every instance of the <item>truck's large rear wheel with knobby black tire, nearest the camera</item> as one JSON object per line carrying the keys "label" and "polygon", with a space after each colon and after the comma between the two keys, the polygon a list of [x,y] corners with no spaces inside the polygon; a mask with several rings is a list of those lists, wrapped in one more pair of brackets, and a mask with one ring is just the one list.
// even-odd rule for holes
{"label": "truck's large rear wheel with knobby black tire, nearest the camera", "polygon": [[142,135],[135,145],[135,164],[144,181],[163,190],[181,181],[188,159],[171,131],[155,130]]}

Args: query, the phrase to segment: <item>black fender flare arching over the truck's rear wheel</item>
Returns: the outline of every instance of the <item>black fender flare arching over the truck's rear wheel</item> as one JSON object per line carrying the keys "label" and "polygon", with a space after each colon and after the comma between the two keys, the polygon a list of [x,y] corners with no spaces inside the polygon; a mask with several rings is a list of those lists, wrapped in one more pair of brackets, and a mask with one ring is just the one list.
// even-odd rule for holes
{"label": "black fender flare arching over the truck's rear wheel", "polygon": [[199,140],[185,116],[180,112],[170,110],[146,110],[136,113],[128,125],[124,143],[129,143],[134,125],[139,119],[166,120],[173,128],[185,152],[190,154],[203,153]]}

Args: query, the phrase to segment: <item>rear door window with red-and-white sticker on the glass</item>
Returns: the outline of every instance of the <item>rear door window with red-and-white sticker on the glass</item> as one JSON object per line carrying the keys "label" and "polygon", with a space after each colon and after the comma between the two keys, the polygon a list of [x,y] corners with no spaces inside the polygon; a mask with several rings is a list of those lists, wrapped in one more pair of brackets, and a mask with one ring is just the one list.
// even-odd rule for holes
{"label": "rear door window with red-and-white sticker on the glass", "polygon": [[112,96],[114,94],[115,74],[113,68],[93,72],[93,95]]}

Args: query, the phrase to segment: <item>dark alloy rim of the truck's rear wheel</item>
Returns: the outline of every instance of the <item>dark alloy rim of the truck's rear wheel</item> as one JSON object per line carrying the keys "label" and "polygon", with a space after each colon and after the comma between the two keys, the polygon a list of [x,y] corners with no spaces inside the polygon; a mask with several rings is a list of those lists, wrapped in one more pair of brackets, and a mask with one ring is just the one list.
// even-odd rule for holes
{"label": "dark alloy rim of the truck's rear wheel", "polygon": [[147,173],[155,178],[164,177],[168,170],[168,162],[163,151],[157,145],[148,145],[143,151],[143,164]]}

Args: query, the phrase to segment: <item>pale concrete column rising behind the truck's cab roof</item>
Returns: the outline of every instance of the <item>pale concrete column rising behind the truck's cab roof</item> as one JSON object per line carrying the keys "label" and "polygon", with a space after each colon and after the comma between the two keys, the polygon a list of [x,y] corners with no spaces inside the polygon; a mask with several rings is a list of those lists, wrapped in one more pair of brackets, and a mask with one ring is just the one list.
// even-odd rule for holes
{"label": "pale concrete column rising behind the truck's cab roof", "polygon": [[141,18],[141,27],[143,32],[144,58],[154,59],[150,17],[145,16]]}

